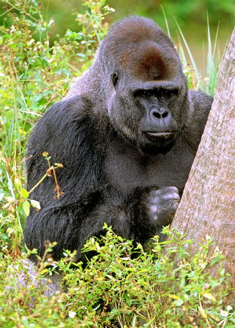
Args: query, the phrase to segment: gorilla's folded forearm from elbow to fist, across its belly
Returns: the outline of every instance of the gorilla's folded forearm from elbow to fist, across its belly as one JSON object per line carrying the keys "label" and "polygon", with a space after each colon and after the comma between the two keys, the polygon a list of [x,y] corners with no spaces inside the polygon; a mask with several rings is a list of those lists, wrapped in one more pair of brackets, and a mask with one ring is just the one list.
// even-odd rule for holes
{"label": "gorilla's folded forearm from elbow to fist, across its belly", "polygon": [[[106,222],[117,235],[144,245],[155,234],[161,238],[162,227],[171,223],[178,201],[175,187],[136,189],[121,197],[112,187],[104,186],[102,192],[91,193],[80,203],[32,212],[24,231],[25,243],[42,256],[44,242],[57,241],[55,260],[63,256],[64,249],[77,250],[76,260],[84,260],[80,250],[89,237],[102,235]],[[34,256],[31,260],[37,261]]]}

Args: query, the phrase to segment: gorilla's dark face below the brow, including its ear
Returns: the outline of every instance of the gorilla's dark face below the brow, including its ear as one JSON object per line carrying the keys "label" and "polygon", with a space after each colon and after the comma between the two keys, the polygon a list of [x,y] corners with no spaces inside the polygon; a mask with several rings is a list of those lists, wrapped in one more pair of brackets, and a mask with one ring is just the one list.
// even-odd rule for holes
{"label": "gorilla's dark face below the brow, including its ear", "polygon": [[[112,81],[115,91],[109,116],[117,130],[144,153],[169,150],[178,133],[174,115],[181,86],[171,81],[135,80],[125,88],[117,72]],[[123,84],[130,85],[130,81]]]}

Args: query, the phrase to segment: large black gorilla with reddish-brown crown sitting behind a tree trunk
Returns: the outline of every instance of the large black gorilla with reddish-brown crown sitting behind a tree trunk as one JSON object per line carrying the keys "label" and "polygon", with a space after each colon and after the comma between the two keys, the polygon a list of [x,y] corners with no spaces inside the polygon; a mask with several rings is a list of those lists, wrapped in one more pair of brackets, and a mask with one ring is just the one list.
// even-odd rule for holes
{"label": "large black gorilla with reddish-brown crown sitting behind a tree trunk", "polygon": [[[146,245],[171,223],[212,104],[188,90],[170,38],[150,19],[130,16],[114,23],[93,65],[68,95],[38,121],[28,141],[27,188],[62,163],[57,180],[63,195],[54,199],[48,177],[33,191],[24,229],[29,249],[52,256],[77,250],[106,222],[116,234]],[[33,262],[37,261],[31,256]]]}

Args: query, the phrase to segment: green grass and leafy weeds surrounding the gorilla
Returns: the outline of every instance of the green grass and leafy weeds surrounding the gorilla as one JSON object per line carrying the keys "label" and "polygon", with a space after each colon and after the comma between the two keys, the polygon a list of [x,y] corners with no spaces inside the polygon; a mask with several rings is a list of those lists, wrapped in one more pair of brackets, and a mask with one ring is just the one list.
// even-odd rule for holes
{"label": "green grass and leafy weeds surrounding the gorilla", "polygon": [[[146,254],[139,246],[136,259],[130,258],[130,242],[109,230],[103,246],[92,238],[86,248],[98,252],[83,270],[70,267],[71,256],[54,262],[51,269],[65,274],[66,293],[51,299],[43,295],[28,279],[27,290],[15,288],[13,277],[24,270],[20,253],[22,229],[29,206],[39,207],[24,189],[23,159],[26,141],[36,120],[66,94],[71,80],[90,66],[100,40],[107,32],[105,15],[112,8],[104,1],[84,1],[84,14],[74,13],[79,32],[67,30],[54,43],[54,22],[34,0],[5,0],[4,22],[0,27],[0,327],[232,327],[230,308],[222,304],[227,281],[223,268],[219,277],[210,277],[205,268],[221,259],[208,256],[211,241],[192,259],[177,234],[171,242]],[[49,4],[49,2],[48,2]],[[212,47],[209,23],[208,55],[203,72],[199,72],[179,26],[176,44],[189,87],[214,94],[221,58],[216,44]],[[168,33],[170,33],[168,29]],[[181,41],[180,41],[181,40]],[[217,40],[217,36],[216,36]],[[184,47],[191,64],[185,60]],[[163,252],[163,249],[168,251]],[[178,261],[166,254],[175,253]],[[38,278],[47,271],[41,264]],[[226,284],[226,283],[225,283]],[[224,285],[223,285],[224,286]],[[213,296],[212,296],[213,295]],[[35,308],[28,305],[35,299]],[[101,300],[104,300],[102,303]],[[209,304],[208,304],[209,302]],[[225,313],[223,311],[226,311]],[[75,315],[74,315],[75,313]],[[228,316],[227,316],[228,314]],[[140,321],[141,320],[141,321]],[[214,326],[213,326],[214,325]]]}

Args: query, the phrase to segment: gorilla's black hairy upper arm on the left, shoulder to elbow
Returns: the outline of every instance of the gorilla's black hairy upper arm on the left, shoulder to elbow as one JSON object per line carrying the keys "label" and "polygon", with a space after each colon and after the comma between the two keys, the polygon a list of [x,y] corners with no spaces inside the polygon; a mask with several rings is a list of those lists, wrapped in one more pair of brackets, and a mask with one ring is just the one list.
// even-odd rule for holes
{"label": "gorilla's black hairy upper arm on the left, shoulder to elbow", "polygon": [[[37,122],[26,153],[27,189],[30,190],[48,170],[42,153],[49,153],[50,164],[63,164],[56,170],[59,187],[64,192],[54,199],[55,180],[47,177],[30,195],[41,207],[61,207],[80,201],[98,188],[104,157],[100,131],[89,115],[92,103],[76,97],[61,101]],[[102,134],[107,133],[105,128]]]}

